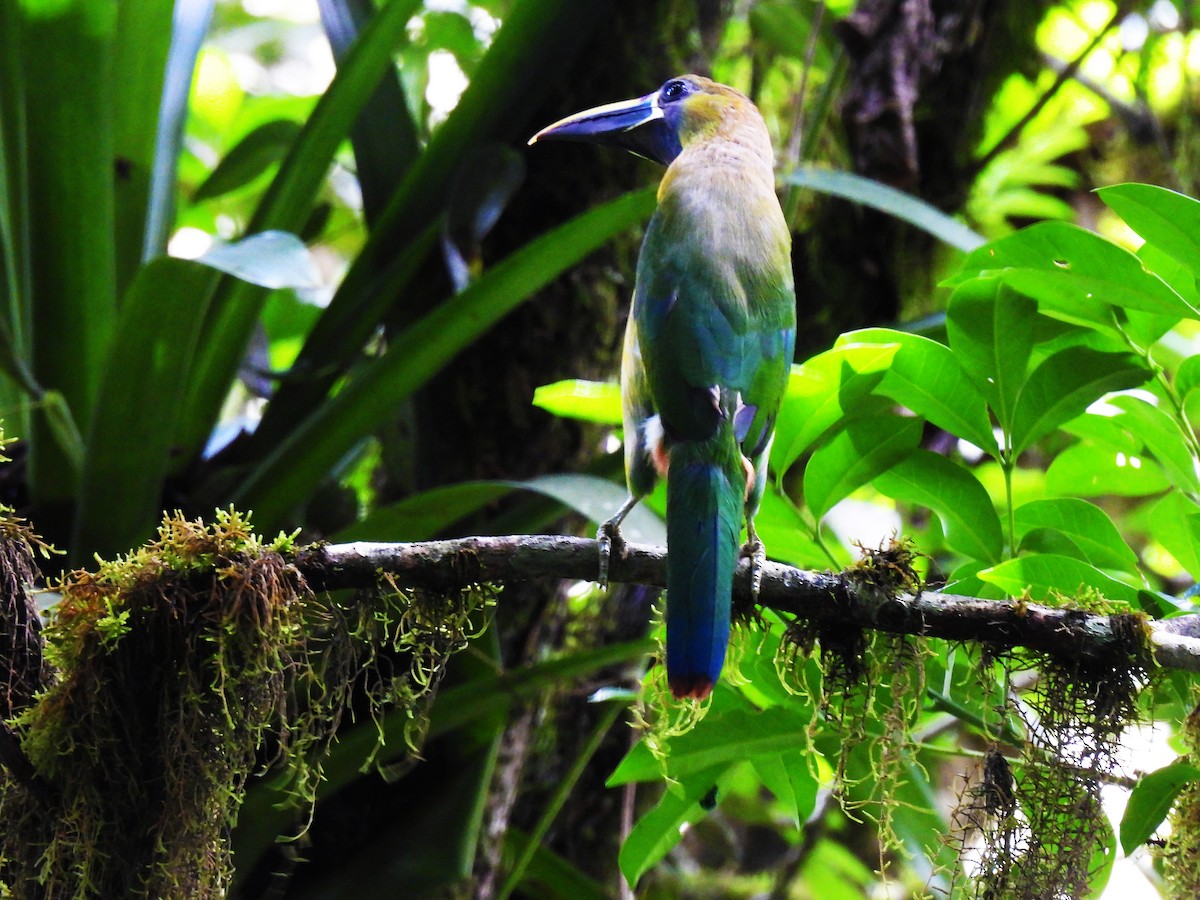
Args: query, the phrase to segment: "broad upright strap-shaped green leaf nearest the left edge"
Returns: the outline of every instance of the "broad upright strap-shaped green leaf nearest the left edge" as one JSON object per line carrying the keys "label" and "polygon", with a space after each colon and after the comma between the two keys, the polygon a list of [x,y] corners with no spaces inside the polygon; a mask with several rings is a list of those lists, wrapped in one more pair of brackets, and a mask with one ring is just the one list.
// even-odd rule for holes
{"label": "broad upright strap-shaped green leaf nearest the left edge", "polygon": [[[22,210],[29,294],[22,325],[31,370],[61,394],[77,422],[91,419],[116,322],[113,191],[116,4],[18,4],[24,97]],[[7,17],[7,13],[6,13]],[[7,126],[6,126],[7,127]],[[8,136],[5,136],[7,142]],[[24,318],[28,317],[28,318]],[[46,409],[46,407],[43,407]],[[66,502],[78,479],[54,425],[34,420],[29,482],[35,503]]]}

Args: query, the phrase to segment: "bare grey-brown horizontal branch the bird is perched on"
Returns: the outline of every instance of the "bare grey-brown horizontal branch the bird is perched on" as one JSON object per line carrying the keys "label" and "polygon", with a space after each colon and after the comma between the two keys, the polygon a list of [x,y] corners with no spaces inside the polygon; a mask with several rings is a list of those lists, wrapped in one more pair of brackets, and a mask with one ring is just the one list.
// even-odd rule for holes
{"label": "bare grey-brown horizontal branch the bird is perched on", "polygon": [[[614,582],[666,584],[666,550],[628,544],[613,552]],[[574,578],[594,581],[594,540],[564,535],[462,538],[419,544],[355,542],[308,547],[296,565],[318,589],[373,584],[388,574],[401,587],[448,589],[480,582]],[[889,634],[992,647],[1027,647],[1088,661],[1127,649],[1127,616],[1102,616],[1024,600],[980,600],[937,592],[887,593],[848,572],[812,572],[779,563],[763,569],[758,602],[818,626],[853,626]],[[750,563],[742,559],[734,598],[750,601]],[[1200,672],[1200,616],[1147,620],[1160,666]]]}

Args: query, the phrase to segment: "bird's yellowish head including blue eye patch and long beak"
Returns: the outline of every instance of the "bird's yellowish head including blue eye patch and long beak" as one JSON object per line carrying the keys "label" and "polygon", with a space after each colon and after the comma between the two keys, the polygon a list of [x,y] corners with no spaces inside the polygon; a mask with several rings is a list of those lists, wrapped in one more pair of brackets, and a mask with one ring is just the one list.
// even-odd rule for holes
{"label": "bird's yellowish head including blue eye patch and long beak", "polygon": [[644,97],[605,103],[560,119],[529,138],[529,143],[614,144],[670,166],[692,142],[722,134],[732,137],[746,125],[766,133],[762,116],[749,97],[703,76],[686,74],[672,78]]}

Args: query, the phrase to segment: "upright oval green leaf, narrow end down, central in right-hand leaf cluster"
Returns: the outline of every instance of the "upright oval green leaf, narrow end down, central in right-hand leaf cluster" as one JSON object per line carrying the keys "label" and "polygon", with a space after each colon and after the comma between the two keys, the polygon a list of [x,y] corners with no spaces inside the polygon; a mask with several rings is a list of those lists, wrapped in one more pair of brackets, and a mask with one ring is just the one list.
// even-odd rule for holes
{"label": "upright oval green leaf, narrow end down, central in right-hand leaf cluster", "polygon": [[946,310],[946,334],[954,356],[1009,433],[1038,318],[1037,304],[1000,278],[964,282]]}

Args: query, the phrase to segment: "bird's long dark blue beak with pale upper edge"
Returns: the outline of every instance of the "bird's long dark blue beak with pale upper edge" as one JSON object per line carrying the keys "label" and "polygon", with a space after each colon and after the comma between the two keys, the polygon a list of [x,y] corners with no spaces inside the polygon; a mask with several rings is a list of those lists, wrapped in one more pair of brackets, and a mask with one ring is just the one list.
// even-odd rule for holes
{"label": "bird's long dark blue beak with pale upper edge", "polygon": [[529,138],[530,144],[539,140],[616,144],[664,166],[670,166],[680,150],[679,138],[667,125],[656,91],[559,119]]}

